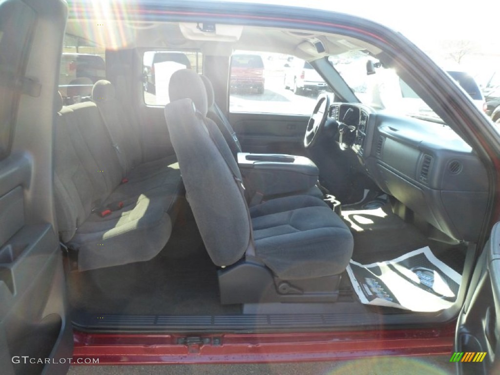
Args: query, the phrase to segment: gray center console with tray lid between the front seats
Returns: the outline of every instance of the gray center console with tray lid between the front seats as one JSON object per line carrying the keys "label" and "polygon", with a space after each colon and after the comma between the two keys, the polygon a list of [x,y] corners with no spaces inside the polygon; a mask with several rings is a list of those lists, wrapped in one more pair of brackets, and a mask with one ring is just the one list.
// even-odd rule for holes
{"label": "gray center console with tray lid between the front seats", "polygon": [[308,193],[318,180],[318,168],[304,156],[238,152],[238,166],[249,196],[267,199]]}

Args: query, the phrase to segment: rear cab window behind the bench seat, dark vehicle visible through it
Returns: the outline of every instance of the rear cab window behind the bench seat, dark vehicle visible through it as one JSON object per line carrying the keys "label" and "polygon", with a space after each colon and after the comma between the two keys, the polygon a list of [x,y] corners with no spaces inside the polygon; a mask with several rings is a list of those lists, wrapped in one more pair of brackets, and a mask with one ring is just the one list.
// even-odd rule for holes
{"label": "rear cab window behind the bench seat, dark vehicle visible through it", "polygon": [[59,92],[64,104],[90,100],[92,86],[106,77],[105,49],[65,34],[59,68]]}

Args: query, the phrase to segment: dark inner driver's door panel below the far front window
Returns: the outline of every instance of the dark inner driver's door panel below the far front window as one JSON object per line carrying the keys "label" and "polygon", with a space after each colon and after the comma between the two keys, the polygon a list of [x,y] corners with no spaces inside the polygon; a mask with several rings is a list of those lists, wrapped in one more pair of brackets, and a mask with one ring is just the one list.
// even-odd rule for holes
{"label": "dark inner driver's door panel below the far front window", "polygon": [[229,113],[241,148],[255,153],[304,155],[307,120],[303,115]]}

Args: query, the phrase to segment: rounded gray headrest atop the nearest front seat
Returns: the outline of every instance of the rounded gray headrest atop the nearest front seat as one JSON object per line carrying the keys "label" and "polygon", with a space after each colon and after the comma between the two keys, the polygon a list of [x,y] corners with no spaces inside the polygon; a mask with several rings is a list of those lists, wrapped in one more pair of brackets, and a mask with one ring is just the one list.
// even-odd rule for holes
{"label": "rounded gray headrest atop the nearest front seat", "polygon": [[208,110],[206,88],[198,73],[191,69],[177,70],[170,77],[170,101],[189,98],[203,116]]}

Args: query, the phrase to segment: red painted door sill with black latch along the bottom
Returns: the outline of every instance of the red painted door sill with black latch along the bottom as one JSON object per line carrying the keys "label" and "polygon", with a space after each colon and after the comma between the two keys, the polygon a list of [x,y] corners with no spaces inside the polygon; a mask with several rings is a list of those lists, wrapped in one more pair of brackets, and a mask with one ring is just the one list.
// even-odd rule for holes
{"label": "red painted door sill with black latch along the bottom", "polygon": [[[370,331],[243,334],[103,334],[74,331],[73,363],[251,363],[451,354],[455,325]],[[191,337],[188,343],[185,337]],[[197,338],[200,338],[198,340]],[[210,342],[210,343],[201,343]],[[83,360],[79,362],[84,362]]]}

